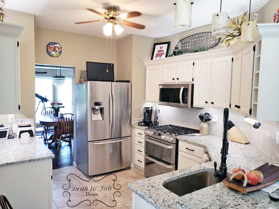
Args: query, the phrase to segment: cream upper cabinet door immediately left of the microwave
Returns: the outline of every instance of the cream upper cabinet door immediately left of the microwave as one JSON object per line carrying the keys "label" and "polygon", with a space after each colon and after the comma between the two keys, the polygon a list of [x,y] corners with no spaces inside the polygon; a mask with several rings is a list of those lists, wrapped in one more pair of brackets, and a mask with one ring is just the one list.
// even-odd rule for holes
{"label": "cream upper cabinet door immediately left of the microwave", "polygon": [[162,65],[146,67],[145,101],[158,102],[159,84],[162,81]]}

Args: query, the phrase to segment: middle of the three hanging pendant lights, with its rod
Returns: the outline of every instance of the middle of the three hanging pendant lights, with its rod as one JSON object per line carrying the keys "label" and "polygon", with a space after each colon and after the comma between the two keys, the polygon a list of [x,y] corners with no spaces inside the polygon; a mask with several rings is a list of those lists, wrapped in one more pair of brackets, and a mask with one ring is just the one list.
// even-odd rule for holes
{"label": "middle of the three hanging pendant lights, with its rod", "polygon": [[220,12],[212,15],[212,37],[219,38],[228,35],[228,12],[221,12],[222,0],[220,5]]}

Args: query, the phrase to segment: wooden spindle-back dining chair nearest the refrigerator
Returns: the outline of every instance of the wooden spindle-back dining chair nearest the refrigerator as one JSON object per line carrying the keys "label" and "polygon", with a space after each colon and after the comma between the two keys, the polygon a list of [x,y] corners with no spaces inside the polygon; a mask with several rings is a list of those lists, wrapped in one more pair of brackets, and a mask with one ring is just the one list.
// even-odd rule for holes
{"label": "wooden spindle-back dining chair nearest the refrigerator", "polygon": [[[58,139],[59,137],[57,151],[59,150],[61,140],[67,141],[69,144],[71,144],[71,138],[73,137],[73,133],[74,133],[74,114],[72,113],[62,114],[57,121],[56,138]],[[65,136],[63,137],[63,135]],[[67,137],[69,137],[69,139],[67,139]]]}

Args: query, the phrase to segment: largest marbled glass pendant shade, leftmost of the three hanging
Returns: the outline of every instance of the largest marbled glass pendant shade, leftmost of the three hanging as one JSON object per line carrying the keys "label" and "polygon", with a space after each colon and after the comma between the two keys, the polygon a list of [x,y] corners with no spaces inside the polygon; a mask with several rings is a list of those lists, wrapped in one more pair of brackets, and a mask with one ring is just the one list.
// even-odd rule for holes
{"label": "largest marbled glass pendant shade, leftmost of the three hanging", "polygon": [[177,0],[174,9],[174,27],[189,28],[192,19],[192,0]]}

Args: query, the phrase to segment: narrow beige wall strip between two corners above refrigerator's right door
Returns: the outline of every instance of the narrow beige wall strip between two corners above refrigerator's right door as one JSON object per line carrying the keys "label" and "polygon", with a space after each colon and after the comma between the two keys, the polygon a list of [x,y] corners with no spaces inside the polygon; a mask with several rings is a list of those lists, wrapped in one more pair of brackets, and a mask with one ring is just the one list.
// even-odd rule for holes
{"label": "narrow beige wall strip between two corners above refrigerator's right door", "polygon": [[132,82],[133,35],[117,40],[117,80]]}

